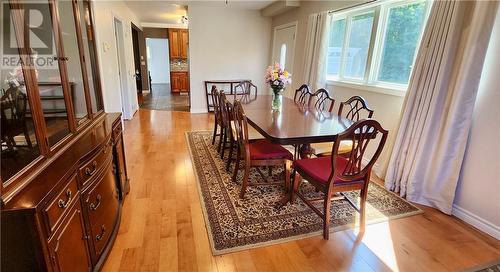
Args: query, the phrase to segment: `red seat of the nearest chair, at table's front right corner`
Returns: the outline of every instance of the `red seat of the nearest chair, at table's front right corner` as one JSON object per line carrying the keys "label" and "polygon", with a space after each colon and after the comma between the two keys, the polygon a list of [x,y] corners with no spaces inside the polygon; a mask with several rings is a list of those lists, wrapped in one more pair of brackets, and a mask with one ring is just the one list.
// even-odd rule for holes
{"label": "red seat of the nearest chair, at table's front right corner", "polygon": [[[293,163],[293,168],[295,168],[299,173],[304,173],[308,175],[309,177],[313,178],[315,181],[327,184],[328,183],[328,178],[330,177],[330,174],[332,172],[332,165],[331,165],[331,160],[332,157],[319,157],[319,158],[312,158],[312,159],[303,159],[303,160],[296,160]],[[335,171],[335,177],[334,177],[334,182],[339,183],[339,182],[344,182],[341,180],[338,176],[337,173],[342,173],[344,172],[344,169],[346,168],[348,163],[348,160],[343,157],[337,157],[337,162],[336,162],[336,171]]]}

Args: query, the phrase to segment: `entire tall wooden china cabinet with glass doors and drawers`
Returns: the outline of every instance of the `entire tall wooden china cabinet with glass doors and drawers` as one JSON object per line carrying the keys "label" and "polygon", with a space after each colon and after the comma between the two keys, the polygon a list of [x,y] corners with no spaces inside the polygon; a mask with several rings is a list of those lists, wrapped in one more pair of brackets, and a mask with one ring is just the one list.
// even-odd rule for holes
{"label": "entire tall wooden china cabinet with glass doors and drawers", "polygon": [[129,191],[121,114],[104,112],[91,3],[30,5],[4,5],[2,24],[27,37],[25,16],[39,10],[55,65],[34,66],[35,51],[20,47],[20,65],[0,68],[0,270],[98,271]]}

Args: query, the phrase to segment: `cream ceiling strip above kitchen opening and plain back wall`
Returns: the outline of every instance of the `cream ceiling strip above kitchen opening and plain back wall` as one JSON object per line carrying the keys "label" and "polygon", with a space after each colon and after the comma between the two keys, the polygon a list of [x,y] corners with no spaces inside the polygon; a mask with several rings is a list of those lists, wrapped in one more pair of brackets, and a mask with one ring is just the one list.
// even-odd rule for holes
{"label": "cream ceiling strip above kitchen opening and plain back wall", "polygon": [[188,5],[226,6],[235,9],[260,10],[276,0],[204,0],[204,1],[150,1],[125,0],[125,4],[135,13],[141,23],[180,24],[187,14]]}

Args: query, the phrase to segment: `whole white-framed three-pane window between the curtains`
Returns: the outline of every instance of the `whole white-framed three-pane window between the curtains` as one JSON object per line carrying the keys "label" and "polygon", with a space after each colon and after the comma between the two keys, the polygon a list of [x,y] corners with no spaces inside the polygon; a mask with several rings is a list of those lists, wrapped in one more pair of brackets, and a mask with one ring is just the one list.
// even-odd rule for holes
{"label": "whole white-framed three-pane window between the curtains", "polygon": [[333,13],[327,79],[406,89],[429,6],[424,0],[383,1]]}

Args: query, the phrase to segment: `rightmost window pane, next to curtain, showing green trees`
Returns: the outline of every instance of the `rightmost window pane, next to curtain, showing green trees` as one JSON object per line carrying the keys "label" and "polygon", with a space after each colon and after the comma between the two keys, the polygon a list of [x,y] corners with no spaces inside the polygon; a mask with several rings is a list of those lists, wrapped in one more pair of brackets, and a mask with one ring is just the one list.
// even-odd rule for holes
{"label": "rightmost window pane, next to curtain, showing green trees", "polygon": [[425,19],[425,3],[389,10],[378,80],[407,84]]}

